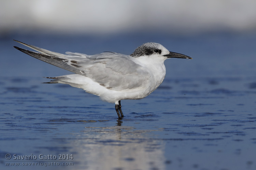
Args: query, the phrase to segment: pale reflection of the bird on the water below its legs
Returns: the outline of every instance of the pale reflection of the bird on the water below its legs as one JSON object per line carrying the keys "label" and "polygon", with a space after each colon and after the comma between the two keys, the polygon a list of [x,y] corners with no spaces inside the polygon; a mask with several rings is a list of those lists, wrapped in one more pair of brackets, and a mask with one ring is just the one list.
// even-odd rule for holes
{"label": "pale reflection of the bird on the water below its legs", "polygon": [[148,131],[116,121],[115,126],[86,127],[75,134],[76,161],[87,169],[166,169],[163,142],[153,140]]}

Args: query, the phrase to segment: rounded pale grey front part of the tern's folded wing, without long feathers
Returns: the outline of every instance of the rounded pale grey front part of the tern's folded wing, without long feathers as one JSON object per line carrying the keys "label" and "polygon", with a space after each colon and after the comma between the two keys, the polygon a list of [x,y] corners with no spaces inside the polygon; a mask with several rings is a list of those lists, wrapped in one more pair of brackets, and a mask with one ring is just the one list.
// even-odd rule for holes
{"label": "rounded pale grey front part of the tern's folded wing, without long feathers", "polygon": [[[114,90],[124,90],[140,87],[150,79],[150,74],[143,70],[132,59],[118,53],[102,53],[94,61],[94,65],[88,69],[87,77],[90,77],[100,85]],[[107,57],[111,55],[111,57]]]}

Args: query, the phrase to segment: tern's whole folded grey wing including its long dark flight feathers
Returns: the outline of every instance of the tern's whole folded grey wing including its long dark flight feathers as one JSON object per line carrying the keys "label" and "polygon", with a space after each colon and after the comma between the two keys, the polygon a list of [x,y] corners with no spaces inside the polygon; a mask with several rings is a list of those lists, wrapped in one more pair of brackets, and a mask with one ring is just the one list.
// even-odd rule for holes
{"label": "tern's whole folded grey wing including its long dark flight feathers", "polygon": [[19,47],[15,48],[46,63],[89,77],[106,88],[115,90],[136,88],[150,79],[148,72],[134,63],[130,56],[124,54],[103,52],[95,55],[86,55],[66,52],[68,54],[66,55],[25,43],[21,44],[40,53]]}

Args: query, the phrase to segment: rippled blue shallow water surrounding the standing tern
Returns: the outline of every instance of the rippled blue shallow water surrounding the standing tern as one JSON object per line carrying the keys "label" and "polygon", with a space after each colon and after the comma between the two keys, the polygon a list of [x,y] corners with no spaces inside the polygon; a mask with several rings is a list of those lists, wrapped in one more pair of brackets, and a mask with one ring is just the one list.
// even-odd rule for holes
{"label": "rippled blue shallow water surrounding the standing tern", "polygon": [[[170,51],[193,60],[167,60],[166,79],[157,90],[142,100],[122,101],[123,120],[117,119],[114,104],[82,89],[41,84],[47,81],[43,76],[69,72],[15,51],[9,46],[22,45],[2,38],[1,68],[9,71],[0,74],[1,169],[46,169],[45,163],[55,163],[47,169],[256,169],[255,37],[172,37],[174,47],[169,49],[163,44],[168,38],[141,36],[140,41],[163,41]],[[83,52],[72,46],[75,41],[82,44],[81,37],[69,43],[51,37],[51,44],[49,37],[11,38],[49,50],[56,46],[56,52],[71,44],[66,51]],[[133,50],[136,40],[123,38]],[[114,46],[121,39],[107,43],[113,50],[102,50],[106,40],[91,38],[102,45],[89,48],[88,54],[128,50]],[[8,153],[11,159],[5,158]],[[14,154],[37,159],[18,162]],[[40,154],[57,159],[40,160]],[[59,154],[72,154],[73,159],[58,159]],[[43,165],[5,166],[11,162]]]}

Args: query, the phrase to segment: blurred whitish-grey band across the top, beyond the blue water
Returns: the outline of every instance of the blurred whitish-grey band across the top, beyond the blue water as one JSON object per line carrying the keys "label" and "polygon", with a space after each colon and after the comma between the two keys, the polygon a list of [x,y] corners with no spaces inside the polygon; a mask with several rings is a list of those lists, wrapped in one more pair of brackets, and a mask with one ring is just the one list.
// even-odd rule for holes
{"label": "blurred whitish-grey band across the top, beyond the blue water", "polygon": [[1,34],[241,33],[255,31],[255,6],[253,0],[2,0]]}

